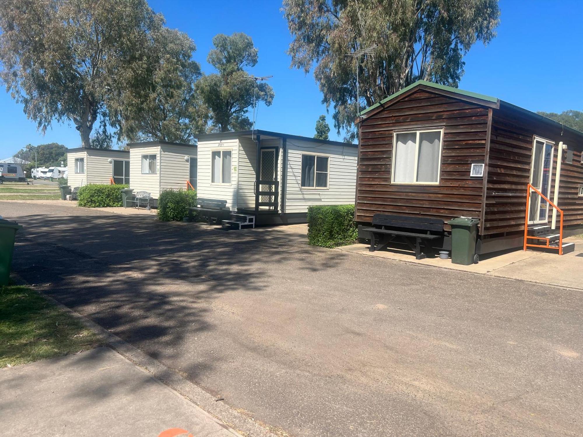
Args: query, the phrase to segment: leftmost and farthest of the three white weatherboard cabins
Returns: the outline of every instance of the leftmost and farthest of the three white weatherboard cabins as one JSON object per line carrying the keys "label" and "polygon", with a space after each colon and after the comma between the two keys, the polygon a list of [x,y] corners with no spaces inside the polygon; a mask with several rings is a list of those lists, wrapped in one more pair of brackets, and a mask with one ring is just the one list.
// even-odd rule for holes
{"label": "leftmost and farthest of the three white weatherboard cabins", "polygon": [[114,149],[67,149],[68,184],[129,184],[129,151]]}

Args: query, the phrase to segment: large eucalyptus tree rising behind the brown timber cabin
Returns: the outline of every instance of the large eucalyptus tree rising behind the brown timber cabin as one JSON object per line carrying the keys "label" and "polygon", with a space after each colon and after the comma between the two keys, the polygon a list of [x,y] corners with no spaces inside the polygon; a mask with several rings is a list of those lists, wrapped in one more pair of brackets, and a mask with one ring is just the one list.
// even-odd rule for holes
{"label": "large eucalyptus tree rising behind the brown timber cabin", "polygon": [[[334,126],[355,137],[356,69],[361,106],[418,79],[458,86],[463,56],[488,44],[498,25],[497,0],[283,0],[293,41],[291,66],[314,71]],[[374,55],[350,53],[375,47]]]}

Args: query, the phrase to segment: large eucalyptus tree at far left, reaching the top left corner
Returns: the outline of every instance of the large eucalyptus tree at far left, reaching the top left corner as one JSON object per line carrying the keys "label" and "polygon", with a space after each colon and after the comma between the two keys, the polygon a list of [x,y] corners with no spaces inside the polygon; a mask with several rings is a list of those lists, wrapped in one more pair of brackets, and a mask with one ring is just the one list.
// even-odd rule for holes
{"label": "large eucalyptus tree at far left, reaching the top left corner", "polygon": [[0,79],[38,129],[72,122],[89,147],[94,124],[106,126],[117,100],[144,86],[161,26],[145,0],[0,0]]}

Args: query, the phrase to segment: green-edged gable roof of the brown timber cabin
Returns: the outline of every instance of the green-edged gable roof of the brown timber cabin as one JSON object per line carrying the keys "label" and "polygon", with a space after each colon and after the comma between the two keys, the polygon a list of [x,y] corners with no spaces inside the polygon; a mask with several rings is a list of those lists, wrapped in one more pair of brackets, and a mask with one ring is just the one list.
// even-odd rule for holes
{"label": "green-edged gable roof of the brown timber cabin", "polygon": [[385,106],[387,106],[387,103],[389,103],[389,101],[395,100],[399,96],[402,96],[403,94],[408,93],[408,91],[416,88],[428,90],[436,94],[443,94],[445,96],[458,98],[459,100],[470,101],[471,103],[484,105],[490,108],[498,109],[500,107],[505,107],[513,111],[521,112],[521,114],[534,118],[537,121],[545,122],[547,124],[553,125],[556,128],[564,129],[564,131],[574,133],[575,135],[578,136],[583,136],[583,132],[577,131],[577,129],[570,128],[558,121],[554,121],[553,119],[544,117],[543,115],[536,114],[536,112],[532,112],[524,108],[518,107],[517,105],[513,105],[512,103],[508,103],[507,101],[500,100],[497,97],[486,96],[486,94],[472,93],[472,91],[461,90],[459,88],[454,88],[447,85],[428,82],[427,80],[417,80],[417,82],[410,84],[409,86],[403,88],[402,90],[397,91],[394,94],[391,94],[391,96],[385,97],[380,102],[375,103],[374,105],[366,108],[364,111],[360,111],[359,117],[357,117],[356,119],[356,123],[363,120],[363,118],[361,117],[363,116],[370,117],[370,115],[373,115],[378,111],[381,111]]}

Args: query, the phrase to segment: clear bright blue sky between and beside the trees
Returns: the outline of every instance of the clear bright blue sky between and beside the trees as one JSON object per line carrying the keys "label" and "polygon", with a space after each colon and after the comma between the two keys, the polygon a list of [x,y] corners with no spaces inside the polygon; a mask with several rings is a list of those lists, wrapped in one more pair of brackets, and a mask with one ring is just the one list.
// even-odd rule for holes
{"label": "clear bright blue sky between and beside the trees", "polygon": [[[460,88],[489,94],[532,111],[583,110],[583,2],[580,0],[500,1],[498,36],[484,47],[476,44],[466,55]],[[220,6],[219,6],[220,5]],[[258,76],[273,75],[271,107],[259,107],[257,128],[294,135],[314,135],[315,121],[326,108],[312,75],[290,69],[286,54],[291,36],[275,0],[194,2],[150,0],[167,25],[185,31],[195,41],[196,61],[211,72],[206,55],[217,33],[247,33],[259,49]],[[54,124],[43,136],[22,106],[0,90],[0,158],[27,143],[58,142],[80,146],[72,125]],[[327,115],[332,126],[331,114]],[[335,131],[331,139],[341,139]]]}

